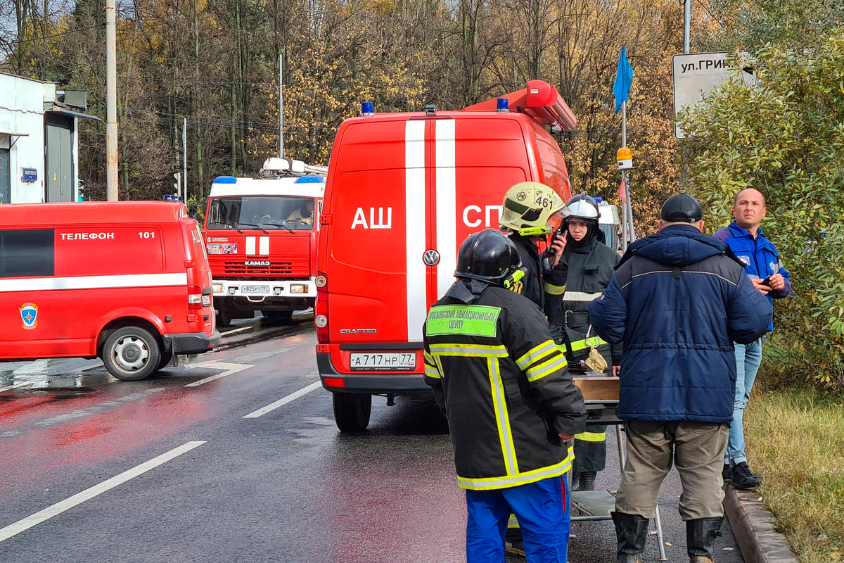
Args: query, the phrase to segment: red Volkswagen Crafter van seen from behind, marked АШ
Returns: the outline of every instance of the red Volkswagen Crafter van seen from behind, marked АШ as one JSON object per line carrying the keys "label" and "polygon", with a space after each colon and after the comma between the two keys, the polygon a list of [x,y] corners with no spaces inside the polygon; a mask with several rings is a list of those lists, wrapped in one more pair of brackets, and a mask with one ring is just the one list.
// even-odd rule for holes
{"label": "red Volkswagen Crafter van seen from behind, marked \u0410\u0428", "polygon": [[[457,249],[497,228],[506,190],[541,181],[567,200],[546,127],[576,118],[540,80],[463,111],[373,115],[339,128],[317,250],[317,366],[344,431],[369,424],[372,395],[424,394],[422,324],[454,281]],[[507,111],[507,108],[511,111]]]}

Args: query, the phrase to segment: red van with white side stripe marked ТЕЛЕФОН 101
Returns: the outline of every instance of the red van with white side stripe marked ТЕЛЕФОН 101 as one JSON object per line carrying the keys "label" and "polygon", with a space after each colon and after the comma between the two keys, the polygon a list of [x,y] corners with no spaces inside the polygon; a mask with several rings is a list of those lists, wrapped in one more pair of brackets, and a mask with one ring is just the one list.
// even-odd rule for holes
{"label": "red van with white side stripe marked \u0422\u0415\u041b\u0415\u0424\u041e\u041d 101", "polygon": [[100,357],[137,381],[219,344],[182,203],[0,205],[0,360]]}

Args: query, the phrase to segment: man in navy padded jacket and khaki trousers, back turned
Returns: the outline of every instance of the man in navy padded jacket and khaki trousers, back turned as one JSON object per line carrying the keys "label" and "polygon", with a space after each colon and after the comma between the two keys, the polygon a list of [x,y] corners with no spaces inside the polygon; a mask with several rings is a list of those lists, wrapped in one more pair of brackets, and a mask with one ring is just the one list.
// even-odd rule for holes
{"label": "man in navy padded jacket and khaki trousers, back turned", "polygon": [[625,349],[619,416],[627,463],[612,513],[618,560],[641,561],[659,486],[675,462],[690,561],[711,563],[733,419],[733,342],[765,333],[771,307],[729,246],[701,233],[695,198],[668,198],[660,216],[660,231],[630,245],[609,287],[589,306],[598,335],[623,341]]}

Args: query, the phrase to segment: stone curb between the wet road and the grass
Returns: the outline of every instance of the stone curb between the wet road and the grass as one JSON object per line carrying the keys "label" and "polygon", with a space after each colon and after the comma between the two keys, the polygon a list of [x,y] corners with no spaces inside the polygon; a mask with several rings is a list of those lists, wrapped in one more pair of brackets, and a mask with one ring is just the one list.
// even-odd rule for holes
{"label": "stone curb between the wet road and the grass", "polygon": [[786,537],[776,531],[774,515],[759,493],[726,485],[723,504],[744,563],[798,563]]}

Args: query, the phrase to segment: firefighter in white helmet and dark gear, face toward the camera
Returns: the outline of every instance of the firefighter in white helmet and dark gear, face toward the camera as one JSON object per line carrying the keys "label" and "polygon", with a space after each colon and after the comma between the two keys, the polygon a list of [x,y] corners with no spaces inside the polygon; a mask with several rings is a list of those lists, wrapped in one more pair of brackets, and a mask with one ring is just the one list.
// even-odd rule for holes
{"label": "firefighter in white helmet and dark gear, face toward the camera", "polygon": [[[592,330],[589,303],[599,297],[613,278],[619,255],[603,244],[598,228],[598,203],[583,192],[565,203],[565,250],[560,265],[568,272],[560,307],[549,311],[551,333],[565,346],[572,373],[595,371],[618,375],[621,344],[610,345]],[[576,490],[594,490],[595,476],[607,458],[606,426],[587,426],[575,436],[575,463],[571,483]]]}

